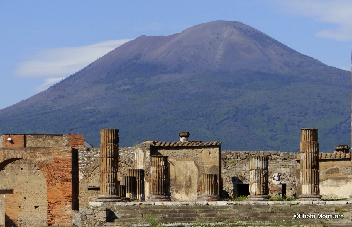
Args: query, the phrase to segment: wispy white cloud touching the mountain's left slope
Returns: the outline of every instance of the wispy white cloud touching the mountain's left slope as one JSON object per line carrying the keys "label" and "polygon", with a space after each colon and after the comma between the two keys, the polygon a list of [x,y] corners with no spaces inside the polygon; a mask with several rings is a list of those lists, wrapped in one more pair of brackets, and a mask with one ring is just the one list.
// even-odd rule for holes
{"label": "wispy white cloud touching the mountain's left slope", "polygon": [[43,78],[45,83],[34,89],[42,91],[130,40],[109,40],[88,46],[41,50],[21,62],[14,74],[22,78]]}

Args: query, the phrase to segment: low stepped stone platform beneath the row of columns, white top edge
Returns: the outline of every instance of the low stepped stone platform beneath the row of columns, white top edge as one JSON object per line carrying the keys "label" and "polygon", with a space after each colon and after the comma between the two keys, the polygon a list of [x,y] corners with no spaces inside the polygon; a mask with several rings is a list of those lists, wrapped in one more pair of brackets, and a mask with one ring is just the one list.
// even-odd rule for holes
{"label": "low stepped stone platform beneath the row of columns, white top edge", "polygon": [[[117,226],[122,223],[207,221],[298,221],[347,224],[352,201],[199,201],[89,202],[75,225]],[[298,215],[298,217],[296,217]]]}

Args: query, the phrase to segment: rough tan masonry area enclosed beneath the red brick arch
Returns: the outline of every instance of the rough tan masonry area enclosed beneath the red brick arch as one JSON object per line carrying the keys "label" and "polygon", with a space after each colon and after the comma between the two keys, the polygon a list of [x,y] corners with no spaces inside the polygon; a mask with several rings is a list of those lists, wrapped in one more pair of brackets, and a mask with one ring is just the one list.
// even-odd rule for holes
{"label": "rough tan masonry area enclosed beneath the red brick arch", "polygon": [[0,169],[0,188],[12,188],[4,198],[5,227],[46,226],[46,181],[39,167],[25,159]]}

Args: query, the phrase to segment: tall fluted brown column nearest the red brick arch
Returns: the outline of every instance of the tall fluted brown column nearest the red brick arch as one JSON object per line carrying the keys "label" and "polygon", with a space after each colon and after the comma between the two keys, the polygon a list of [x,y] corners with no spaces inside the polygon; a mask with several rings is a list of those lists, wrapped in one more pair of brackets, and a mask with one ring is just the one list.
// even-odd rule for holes
{"label": "tall fluted brown column nearest the red brick arch", "polygon": [[100,130],[100,195],[97,201],[120,201],[117,195],[119,130]]}

